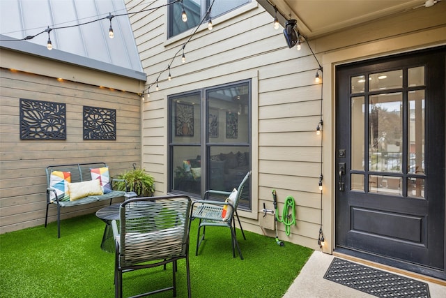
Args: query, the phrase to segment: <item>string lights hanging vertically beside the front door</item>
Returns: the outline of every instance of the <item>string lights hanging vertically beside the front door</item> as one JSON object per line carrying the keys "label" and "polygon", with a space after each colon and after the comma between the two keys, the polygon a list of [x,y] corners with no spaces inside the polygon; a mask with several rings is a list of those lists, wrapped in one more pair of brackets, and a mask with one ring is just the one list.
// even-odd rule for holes
{"label": "string lights hanging vertically beside the front door", "polygon": [[[277,18],[277,13],[279,13],[280,15],[282,15],[282,13],[279,12],[279,10],[277,9],[277,6],[273,5],[272,3],[270,3],[270,1],[268,1],[268,3],[272,6],[272,8],[274,8],[274,20],[272,21],[272,24],[274,26],[274,29],[279,29],[279,20]],[[282,15],[282,17],[284,17],[284,15]],[[286,17],[284,17],[284,19],[286,19]],[[325,244],[325,239],[323,237],[323,232],[322,232],[322,199],[323,199],[323,119],[322,119],[322,114],[323,114],[323,80],[322,80],[322,75],[323,75],[323,68],[321,66],[321,64],[319,63],[316,54],[314,54],[312,47],[309,45],[309,40],[307,39],[306,36],[302,35],[299,30],[295,30],[295,27],[297,27],[297,20],[288,20],[285,24],[285,29],[284,29],[284,35],[286,36],[287,34],[289,34],[288,37],[292,37],[292,40],[288,40],[287,36],[287,43],[289,43],[289,47],[293,47],[294,45],[296,46],[297,50],[299,51],[301,48],[301,44],[302,41],[301,40],[305,40],[307,42],[308,48],[309,50],[312,52],[312,55],[314,57],[314,59],[316,60],[317,64],[318,64],[318,69],[316,70],[316,75],[315,75],[315,79],[314,81],[316,82],[316,84],[321,84],[321,112],[319,113],[320,119],[319,122],[316,126],[316,135],[321,137],[321,175],[319,176],[319,181],[318,181],[318,188],[319,188],[319,192],[321,193],[321,223],[319,225],[319,235],[318,235],[318,246],[319,248],[322,248],[322,246]],[[291,35],[290,35],[291,33]],[[319,74],[320,73],[320,74]]]}

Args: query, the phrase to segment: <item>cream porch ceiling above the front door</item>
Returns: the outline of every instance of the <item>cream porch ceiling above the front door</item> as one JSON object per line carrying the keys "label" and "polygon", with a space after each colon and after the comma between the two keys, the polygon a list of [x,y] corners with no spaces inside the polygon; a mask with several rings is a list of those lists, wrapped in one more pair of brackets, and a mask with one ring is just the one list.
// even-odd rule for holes
{"label": "cream porch ceiling above the front door", "polygon": [[277,7],[279,22],[298,20],[298,29],[308,37],[321,36],[371,20],[426,8],[427,2],[439,0],[257,0],[274,17]]}

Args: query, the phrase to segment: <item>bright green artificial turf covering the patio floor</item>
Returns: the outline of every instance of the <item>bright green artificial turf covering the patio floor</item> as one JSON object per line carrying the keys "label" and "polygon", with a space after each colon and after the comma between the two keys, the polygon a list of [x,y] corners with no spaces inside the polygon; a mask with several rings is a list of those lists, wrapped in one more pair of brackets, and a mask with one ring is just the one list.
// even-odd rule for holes
{"label": "bright green artificial turf covering the patio floor", "polygon": [[[226,228],[206,229],[195,256],[197,223],[190,230],[192,297],[282,297],[312,254],[289,242],[245,231],[245,260],[232,257]],[[0,235],[0,297],[114,297],[114,253],[100,248],[105,223],[94,214]],[[177,297],[187,297],[185,260],[178,261]],[[171,285],[171,265],[123,274],[123,295]],[[172,297],[172,291],[153,297]]]}

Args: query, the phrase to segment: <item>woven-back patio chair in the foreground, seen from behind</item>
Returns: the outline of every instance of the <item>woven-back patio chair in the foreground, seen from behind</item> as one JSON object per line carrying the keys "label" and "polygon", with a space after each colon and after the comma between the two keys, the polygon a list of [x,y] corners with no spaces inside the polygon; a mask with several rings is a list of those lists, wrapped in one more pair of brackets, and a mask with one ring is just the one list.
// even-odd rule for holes
{"label": "woven-back patio chair in the foreground, seen from behind", "polygon": [[[189,214],[191,200],[185,195],[133,198],[120,207],[120,221],[112,221],[116,241],[115,297],[123,295],[123,273],[172,263],[173,285],[137,297],[174,291],[177,260],[185,259],[187,295],[190,291]],[[118,229],[119,226],[119,229]]]}

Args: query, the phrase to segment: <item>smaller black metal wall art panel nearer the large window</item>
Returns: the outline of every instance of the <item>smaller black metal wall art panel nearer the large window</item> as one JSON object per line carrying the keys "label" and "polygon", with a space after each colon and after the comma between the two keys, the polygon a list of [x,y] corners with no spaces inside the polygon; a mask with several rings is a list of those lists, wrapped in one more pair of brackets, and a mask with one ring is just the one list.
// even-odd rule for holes
{"label": "smaller black metal wall art panel nearer the large window", "polygon": [[84,106],[84,140],[116,140],[116,110]]}

